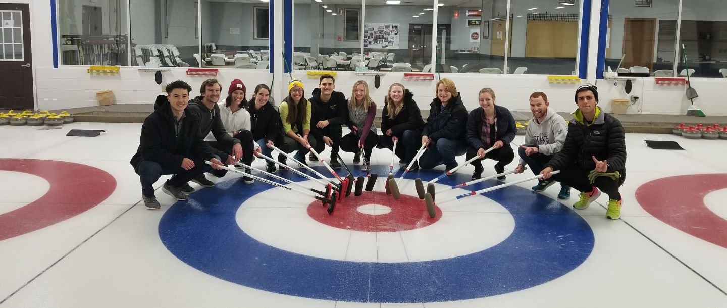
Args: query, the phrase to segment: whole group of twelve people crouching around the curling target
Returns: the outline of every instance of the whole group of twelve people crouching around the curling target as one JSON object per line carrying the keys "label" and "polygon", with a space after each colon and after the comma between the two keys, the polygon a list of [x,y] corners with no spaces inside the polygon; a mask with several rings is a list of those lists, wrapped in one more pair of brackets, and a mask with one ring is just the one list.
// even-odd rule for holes
{"label": "whole group of twelve people crouching around the curling target", "polygon": [[[290,81],[288,95],[276,110],[264,84],[258,85],[247,101],[246,87],[236,79],[228,88],[228,97],[218,103],[222,86],[215,79],[204,81],[201,95],[193,100],[189,100],[188,84],[172,82],[166,86],[166,97],[157,97],[155,111],[142,126],[140,146],[132,158],[145,206],[160,207],[152,185],[162,174],[174,174],[162,185],[162,191],[185,200],[186,194],[194,192],[188,182],[212,187],[214,182],[206,179],[205,172],[223,177],[225,169],[218,164],[239,161],[250,165],[256,152],[269,157],[273,147],[284,153],[295,152],[293,158],[307,164],[306,155],[317,161],[312,152],[321,153],[328,146],[332,168],[340,168],[340,152],[348,152],[354,153],[353,163],[363,163],[364,170],[370,168],[375,147],[394,150],[398,144],[394,154],[402,165],[411,164],[410,171],[441,165],[450,171],[457,166],[457,156],[466,154],[467,160],[478,157],[471,162],[475,167],[472,179],[481,178],[482,160],[486,158],[497,161],[495,174],[505,179],[505,166],[515,158],[510,146],[517,132],[515,119],[510,110],[496,104],[490,88],[478,93],[479,108],[467,112],[454,82],[441,79],[435,85],[425,121],[414,94],[403,84],[391,84],[384,98],[380,136],[374,124],[377,105],[369,96],[366,81],[353,84],[348,100],[335,88],[333,76],[321,76],[318,88],[306,99],[302,82]],[[616,118],[597,106],[595,87],[577,89],[579,109],[569,124],[548,108],[545,93],[534,92],[529,100],[533,117],[525,144],[518,147],[520,161],[515,173],[529,166],[534,174],[542,174],[532,188],[538,192],[561,182],[561,199],[570,198],[571,187],[579,190],[575,208],[587,208],[603,191],[609,197],[606,217],[618,219],[622,203],[619,187],[625,177],[624,130]],[[345,136],[343,125],[350,129]],[[426,150],[414,161],[422,145]],[[285,168],[287,157],[278,154],[281,168]],[[212,161],[212,165],[207,166],[204,160]],[[267,161],[267,171],[276,170],[276,163]],[[560,172],[551,174],[554,170]],[[244,177],[244,182],[252,184],[254,179]]]}

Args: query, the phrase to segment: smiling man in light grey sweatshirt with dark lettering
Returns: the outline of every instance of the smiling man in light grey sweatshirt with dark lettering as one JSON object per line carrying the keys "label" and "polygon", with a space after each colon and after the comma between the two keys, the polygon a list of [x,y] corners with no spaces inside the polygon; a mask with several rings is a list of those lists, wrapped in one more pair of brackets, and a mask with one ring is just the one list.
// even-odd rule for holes
{"label": "smiling man in light grey sweatshirt with dark lettering", "polygon": [[[533,113],[533,118],[525,132],[525,145],[521,145],[518,149],[520,163],[515,167],[515,173],[522,173],[527,164],[533,174],[540,174],[550,158],[563,149],[568,134],[568,124],[555,110],[547,108],[548,105],[550,104],[545,93],[534,92],[530,95],[530,111]],[[542,192],[553,184],[555,184],[553,179],[539,181],[532,190]],[[569,198],[571,198],[571,187],[561,183],[558,199]]]}

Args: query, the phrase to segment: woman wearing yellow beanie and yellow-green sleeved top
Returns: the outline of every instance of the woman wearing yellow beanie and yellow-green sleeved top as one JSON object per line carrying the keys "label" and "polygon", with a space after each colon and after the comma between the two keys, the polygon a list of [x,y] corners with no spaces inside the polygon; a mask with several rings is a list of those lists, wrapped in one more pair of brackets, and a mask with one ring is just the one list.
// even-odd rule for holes
{"label": "woman wearing yellow beanie and yellow-green sleeved top", "polygon": [[[316,139],[308,141],[310,133],[310,102],[304,97],[303,84],[298,79],[293,79],[288,84],[288,97],[280,104],[280,119],[283,123],[283,144],[281,150],[285,153],[292,153],[297,150],[294,158],[305,163],[305,154],[309,152],[308,147],[316,147]],[[284,155],[278,155],[278,161],[285,164]]]}

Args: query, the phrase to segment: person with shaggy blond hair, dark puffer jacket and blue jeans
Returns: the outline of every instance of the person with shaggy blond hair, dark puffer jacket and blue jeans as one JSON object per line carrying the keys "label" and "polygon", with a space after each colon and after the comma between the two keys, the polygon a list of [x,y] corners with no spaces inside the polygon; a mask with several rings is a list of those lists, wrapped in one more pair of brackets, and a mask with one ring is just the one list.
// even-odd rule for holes
{"label": "person with shaggy blond hair, dark puffer jacket and blue jeans", "polygon": [[419,158],[419,167],[432,169],[443,163],[449,171],[457,167],[455,157],[467,153],[467,108],[448,78],[437,83],[436,94],[422,130],[422,144],[427,150]]}

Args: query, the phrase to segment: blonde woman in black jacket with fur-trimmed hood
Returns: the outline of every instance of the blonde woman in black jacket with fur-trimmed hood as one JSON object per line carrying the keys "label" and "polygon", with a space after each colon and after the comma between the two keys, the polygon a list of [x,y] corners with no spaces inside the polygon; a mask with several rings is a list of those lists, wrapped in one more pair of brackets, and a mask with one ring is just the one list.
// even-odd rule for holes
{"label": "blonde woman in black jacket with fur-trimmed hood", "polygon": [[[414,102],[414,94],[404,88],[403,84],[394,83],[389,86],[389,91],[384,100],[384,109],[381,117],[381,131],[384,133],[379,139],[379,147],[393,149],[397,141],[396,156],[399,163],[408,165],[419,149],[421,136],[422,113]],[[419,169],[418,163],[414,163],[409,171]]]}

